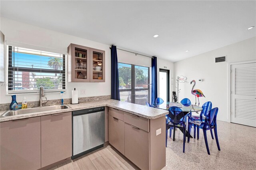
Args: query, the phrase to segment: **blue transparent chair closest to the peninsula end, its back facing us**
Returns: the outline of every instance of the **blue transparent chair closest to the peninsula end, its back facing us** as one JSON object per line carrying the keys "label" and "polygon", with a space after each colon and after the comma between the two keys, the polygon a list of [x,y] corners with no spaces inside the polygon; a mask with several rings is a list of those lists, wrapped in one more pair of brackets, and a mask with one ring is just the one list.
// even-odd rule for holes
{"label": "blue transparent chair closest to the peninsula end, its back facing us", "polygon": [[[167,147],[167,132],[168,128],[179,128],[183,130],[183,153],[185,153],[185,142],[186,142],[186,122],[184,122],[184,112],[176,106],[172,106],[168,109],[169,114],[168,117],[170,118],[170,122],[166,121],[166,144]],[[175,136],[175,130],[173,130],[173,136]],[[174,137],[175,138],[175,137]],[[174,141],[173,138],[173,141]]]}

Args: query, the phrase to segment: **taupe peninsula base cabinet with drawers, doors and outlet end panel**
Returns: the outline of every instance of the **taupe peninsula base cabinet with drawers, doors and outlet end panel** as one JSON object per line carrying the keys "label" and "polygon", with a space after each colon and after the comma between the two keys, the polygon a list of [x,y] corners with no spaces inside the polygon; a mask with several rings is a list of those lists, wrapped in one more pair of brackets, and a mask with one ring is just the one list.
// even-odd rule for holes
{"label": "taupe peninsula base cabinet with drawers, doors and outlet end panel", "polygon": [[165,116],[147,119],[113,108],[108,115],[112,146],[142,170],[166,166]]}

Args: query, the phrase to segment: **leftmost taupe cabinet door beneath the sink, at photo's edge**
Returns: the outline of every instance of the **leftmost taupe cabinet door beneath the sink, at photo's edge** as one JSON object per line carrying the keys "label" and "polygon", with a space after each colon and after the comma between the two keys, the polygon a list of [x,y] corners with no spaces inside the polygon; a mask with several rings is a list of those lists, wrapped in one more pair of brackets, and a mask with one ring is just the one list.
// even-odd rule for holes
{"label": "leftmost taupe cabinet door beneath the sink, at photo's edge", "polygon": [[40,117],[1,122],[0,126],[0,169],[40,169]]}

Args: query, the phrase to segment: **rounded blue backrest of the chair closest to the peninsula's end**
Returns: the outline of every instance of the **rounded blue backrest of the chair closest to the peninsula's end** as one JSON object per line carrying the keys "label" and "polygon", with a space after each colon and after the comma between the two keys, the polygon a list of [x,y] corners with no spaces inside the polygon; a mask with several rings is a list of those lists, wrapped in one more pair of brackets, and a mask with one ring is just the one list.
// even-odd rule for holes
{"label": "rounded blue backrest of the chair closest to the peninsula's end", "polygon": [[168,109],[169,111],[169,118],[172,124],[177,125],[184,121],[184,112],[176,106],[172,106]]}

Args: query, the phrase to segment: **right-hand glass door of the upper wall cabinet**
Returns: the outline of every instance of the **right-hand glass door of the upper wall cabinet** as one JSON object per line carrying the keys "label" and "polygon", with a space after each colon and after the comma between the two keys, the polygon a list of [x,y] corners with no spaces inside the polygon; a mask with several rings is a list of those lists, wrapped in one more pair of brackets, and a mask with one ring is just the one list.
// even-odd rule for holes
{"label": "right-hand glass door of the upper wall cabinet", "polygon": [[105,51],[90,48],[90,82],[105,82]]}

